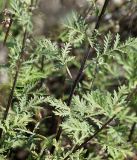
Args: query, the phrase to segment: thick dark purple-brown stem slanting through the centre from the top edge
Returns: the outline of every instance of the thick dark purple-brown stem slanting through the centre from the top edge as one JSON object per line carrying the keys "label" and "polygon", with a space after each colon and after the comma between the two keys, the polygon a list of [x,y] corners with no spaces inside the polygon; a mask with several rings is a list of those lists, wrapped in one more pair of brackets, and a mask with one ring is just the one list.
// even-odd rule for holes
{"label": "thick dark purple-brown stem slanting through the centre from the top edge", "polygon": [[[99,27],[100,27],[100,22],[101,22],[101,20],[102,20],[102,17],[103,17],[103,15],[104,15],[105,11],[106,11],[106,8],[107,8],[107,5],[108,5],[109,1],[110,1],[110,0],[105,0],[104,5],[103,5],[103,8],[102,8],[102,10],[101,10],[101,13],[100,13],[100,15],[99,15],[99,17],[98,17],[98,19],[97,19],[97,22],[96,22],[94,31],[97,30],[97,29],[99,29]],[[94,34],[94,32],[93,32],[93,34]],[[72,87],[71,87],[71,90],[70,90],[70,94],[69,94],[69,98],[68,98],[68,101],[67,101],[67,105],[68,105],[68,106],[71,105],[72,97],[73,97],[73,95],[74,95],[76,86],[78,85],[78,83],[79,83],[79,81],[80,81],[80,78],[81,78],[81,76],[82,76],[82,74],[83,74],[83,71],[84,71],[84,68],[85,68],[85,64],[86,64],[86,61],[87,61],[88,56],[89,56],[89,54],[90,54],[90,51],[91,51],[91,47],[90,47],[90,45],[89,45],[87,51],[85,52],[83,61],[81,62],[81,67],[80,67],[80,69],[79,69],[79,72],[78,72],[78,74],[77,74],[77,77],[76,77],[75,81],[74,81],[73,84],[72,84]],[[63,121],[63,119],[61,120],[61,122],[62,122],[62,121]],[[61,123],[61,122],[60,122],[60,123]],[[59,127],[59,130],[58,130],[58,132],[57,132],[57,134],[56,134],[56,141],[59,141],[60,136],[61,136],[61,133],[62,133],[62,128]],[[54,153],[54,150],[55,150],[55,147],[53,146],[53,147],[51,148],[51,153],[52,153],[52,154]]]}

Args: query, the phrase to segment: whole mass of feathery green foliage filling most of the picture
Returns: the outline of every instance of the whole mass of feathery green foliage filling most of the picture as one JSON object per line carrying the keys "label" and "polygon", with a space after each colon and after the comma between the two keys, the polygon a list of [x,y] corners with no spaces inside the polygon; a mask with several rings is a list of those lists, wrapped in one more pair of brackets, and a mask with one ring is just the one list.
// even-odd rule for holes
{"label": "whole mass of feathery green foliage filling most of the picture", "polygon": [[[119,34],[103,36],[74,11],[63,19],[58,41],[36,37],[31,21],[35,5],[31,3],[11,0],[9,7],[14,22],[10,28],[13,35],[6,43],[11,88],[2,90],[0,86],[0,159],[15,159],[13,150],[18,148],[28,151],[28,160],[132,157],[137,149],[136,129],[133,140],[128,140],[131,126],[137,122],[137,38],[121,42]],[[22,42],[24,31],[27,36]],[[87,59],[83,81],[68,105],[70,85],[77,76],[75,68],[79,68],[89,46],[96,54]],[[12,103],[3,119],[6,112],[1,99],[5,92],[9,98],[12,89]],[[59,127],[62,134],[57,141]],[[51,133],[54,128],[56,131]],[[86,145],[76,149],[87,138]],[[51,154],[53,145],[55,151]]]}

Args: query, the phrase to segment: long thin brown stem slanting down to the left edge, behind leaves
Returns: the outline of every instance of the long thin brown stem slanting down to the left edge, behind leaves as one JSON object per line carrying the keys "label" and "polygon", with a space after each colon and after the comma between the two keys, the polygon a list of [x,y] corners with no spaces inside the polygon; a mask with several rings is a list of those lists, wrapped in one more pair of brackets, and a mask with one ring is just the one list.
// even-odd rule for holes
{"label": "long thin brown stem slanting down to the left edge, behind leaves", "polygon": [[[17,83],[17,79],[18,79],[18,75],[19,75],[19,70],[20,70],[20,67],[21,67],[21,62],[22,62],[22,58],[23,58],[23,54],[24,54],[26,36],[27,36],[27,32],[25,30],[25,33],[24,33],[24,36],[23,36],[23,41],[22,41],[22,49],[21,49],[21,52],[20,52],[20,57],[17,61],[17,69],[16,69],[13,85],[12,85],[11,92],[10,92],[10,95],[9,95],[9,98],[8,98],[8,103],[7,103],[7,106],[6,106],[6,110],[4,112],[2,122],[4,122],[7,119],[9,109],[10,109],[11,104],[12,104],[14,90],[15,90],[15,87],[16,87],[16,83]],[[1,138],[1,136],[2,136],[2,129],[0,129],[0,138]]]}

